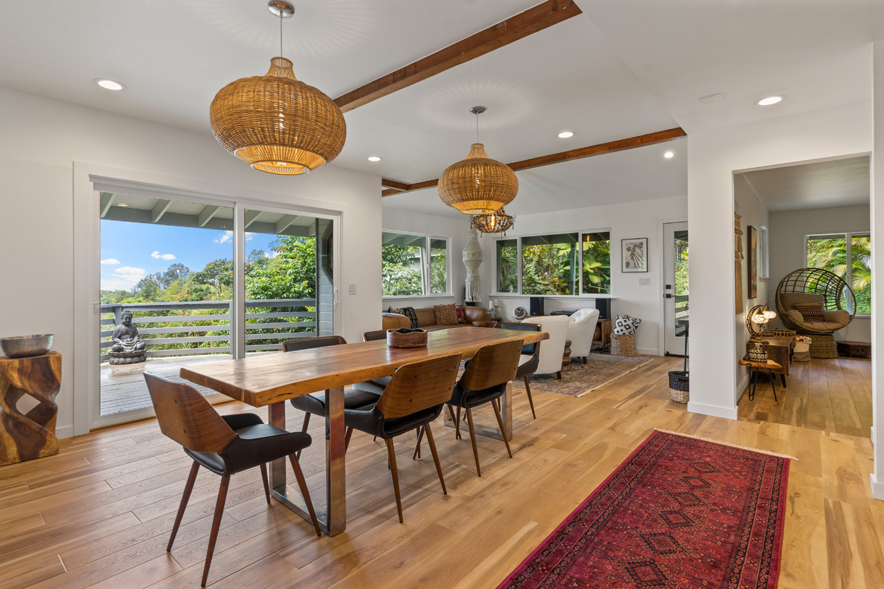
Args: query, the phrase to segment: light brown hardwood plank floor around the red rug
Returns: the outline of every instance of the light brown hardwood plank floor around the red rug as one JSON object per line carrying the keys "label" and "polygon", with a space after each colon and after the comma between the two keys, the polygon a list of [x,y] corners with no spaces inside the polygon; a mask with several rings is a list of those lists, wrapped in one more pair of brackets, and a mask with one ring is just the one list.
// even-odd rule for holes
{"label": "light brown hardwood plank floor around the red rug", "polygon": [[[456,441],[438,423],[448,495],[441,495],[426,445],[423,459],[412,460],[414,438],[401,437],[404,524],[396,517],[385,445],[364,434],[354,434],[347,454],[347,532],[334,538],[316,538],[306,521],[268,506],[256,469],[235,475],[210,586],[493,588],[659,427],[799,458],[789,473],[781,589],[884,587],[884,502],[873,500],[869,488],[871,441],[686,412],[667,389],[667,371],[679,366],[680,359],[656,358],[580,398],[535,391],[536,420],[515,389],[514,457],[499,440],[479,436],[481,478],[469,436]],[[842,374],[848,388],[857,381],[839,363],[809,371],[808,390],[819,388],[821,374]],[[477,421],[493,419],[490,410],[476,412]],[[315,442],[302,464],[314,501],[322,502],[323,429],[312,421]],[[290,409],[289,424],[300,428],[301,414]],[[0,468],[0,586],[198,587],[219,477],[200,474],[167,554],[190,462],[156,422],[62,445],[55,457]]]}

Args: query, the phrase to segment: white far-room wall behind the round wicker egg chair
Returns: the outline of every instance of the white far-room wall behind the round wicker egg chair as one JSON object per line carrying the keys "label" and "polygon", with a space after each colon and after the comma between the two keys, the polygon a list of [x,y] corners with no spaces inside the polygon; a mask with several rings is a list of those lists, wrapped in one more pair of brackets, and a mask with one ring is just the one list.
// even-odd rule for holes
{"label": "white far-room wall behind the round wicker egg chair", "polygon": [[[792,270],[804,268],[804,238],[821,233],[846,233],[849,231],[871,230],[868,205],[856,207],[809,208],[801,211],[782,211],[770,215],[770,261],[771,261],[771,300],[777,285]],[[777,318],[773,327],[781,328]],[[854,342],[872,341],[872,319],[854,317],[847,328],[834,333],[835,339]]]}

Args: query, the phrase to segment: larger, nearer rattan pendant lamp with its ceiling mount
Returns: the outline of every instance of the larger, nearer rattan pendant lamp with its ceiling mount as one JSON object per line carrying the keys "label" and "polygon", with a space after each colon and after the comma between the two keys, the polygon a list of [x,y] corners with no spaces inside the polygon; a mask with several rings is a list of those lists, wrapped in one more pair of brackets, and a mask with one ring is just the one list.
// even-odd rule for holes
{"label": "larger, nearer rattan pendant lamp with its ceiling mount", "polygon": [[[292,4],[267,4],[282,19]],[[209,109],[212,131],[230,153],[255,170],[294,176],[316,170],[336,158],[347,139],[347,124],[328,96],[294,77],[292,62],[273,57],[263,76],[238,79],[221,88]]]}

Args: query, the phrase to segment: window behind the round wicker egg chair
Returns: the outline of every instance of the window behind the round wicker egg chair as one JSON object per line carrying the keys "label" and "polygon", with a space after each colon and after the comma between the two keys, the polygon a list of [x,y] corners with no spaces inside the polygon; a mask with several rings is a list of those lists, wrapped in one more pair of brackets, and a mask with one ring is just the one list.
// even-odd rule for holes
{"label": "window behind the round wicker egg chair", "polygon": [[[842,276],[857,297],[856,313],[872,313],[872,238],[868,233],[807,236],[807,266]],[[848,306],[844,297],[842,305]],[[854,309],[850,309],[854,311]]]}

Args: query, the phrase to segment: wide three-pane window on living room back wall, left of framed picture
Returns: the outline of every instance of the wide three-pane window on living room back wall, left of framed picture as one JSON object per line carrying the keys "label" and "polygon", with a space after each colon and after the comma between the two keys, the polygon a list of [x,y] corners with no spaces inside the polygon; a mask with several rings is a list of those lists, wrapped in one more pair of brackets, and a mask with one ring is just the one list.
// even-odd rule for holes
{"label": "wide three-pane window on living room back wall, left of framed picture", "polygon": [[498,292],[552,296],[611,292],[609,231],[498,239],[496,254]]}

